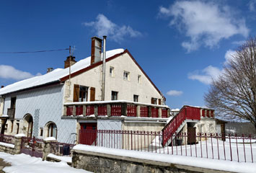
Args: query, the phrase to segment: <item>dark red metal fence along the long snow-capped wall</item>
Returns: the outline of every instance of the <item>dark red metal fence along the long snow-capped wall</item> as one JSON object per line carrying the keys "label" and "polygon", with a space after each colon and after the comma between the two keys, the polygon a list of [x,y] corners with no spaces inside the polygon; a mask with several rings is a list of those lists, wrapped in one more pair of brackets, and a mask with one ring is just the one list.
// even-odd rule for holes
{"label": "dark red metal fence along the long snow-capped wall", "polygon": [[80,130],[79,143],[238,162],[253,163],[256,158],[256,137],[251,135],[173,133],[169,146],[164,147],[161,131]]}

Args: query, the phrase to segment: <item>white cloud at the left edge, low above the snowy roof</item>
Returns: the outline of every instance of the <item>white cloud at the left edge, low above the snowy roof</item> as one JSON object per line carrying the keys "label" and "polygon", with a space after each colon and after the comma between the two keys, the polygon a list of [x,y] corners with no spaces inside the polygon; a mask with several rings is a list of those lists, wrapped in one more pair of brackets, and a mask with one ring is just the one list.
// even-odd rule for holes
{"label": "white cloud at the left edge, low above the snowy roof", "polygon": [[[36,76],[40,75],[40,73],[36,74]],[[34,77],[34,75],[29,72],[17,70],[13,66],[0,65],[0,78],[22,80],[31,77]]]}

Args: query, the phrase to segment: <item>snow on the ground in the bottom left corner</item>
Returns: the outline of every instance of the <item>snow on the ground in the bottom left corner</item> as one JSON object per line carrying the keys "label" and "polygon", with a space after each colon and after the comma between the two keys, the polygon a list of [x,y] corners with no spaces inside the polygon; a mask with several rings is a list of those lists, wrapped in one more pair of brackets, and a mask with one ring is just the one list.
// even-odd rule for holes
{"label": "snow on the ground in the bottom left corner", "polygon": [[6,173],[87,173],[87,171],[83,169],[69,167],[69,165],[63,161],[42,161],[41,158],[32,157],[26,154],[12,155],[0,152],[0,158],[12,164],[11,167],[5,167],[3,169]]}

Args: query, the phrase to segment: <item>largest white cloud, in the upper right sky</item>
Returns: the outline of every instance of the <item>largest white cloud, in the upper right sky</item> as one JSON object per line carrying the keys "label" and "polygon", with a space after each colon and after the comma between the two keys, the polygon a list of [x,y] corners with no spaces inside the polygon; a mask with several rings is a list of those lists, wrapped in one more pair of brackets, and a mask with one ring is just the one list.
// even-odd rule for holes
{"label": "largest white cloud, in the upper right sky", "polygon": [[169,8],[161,6],[159,15],[173,17],[169,25],[190,37],[182,43],[188,52],[197,50],[201,45],[212,48],[222,39],[233,35],[247,37],[249,33],[244,19],[234,17],[229,6],[213,2],[176,1]]}

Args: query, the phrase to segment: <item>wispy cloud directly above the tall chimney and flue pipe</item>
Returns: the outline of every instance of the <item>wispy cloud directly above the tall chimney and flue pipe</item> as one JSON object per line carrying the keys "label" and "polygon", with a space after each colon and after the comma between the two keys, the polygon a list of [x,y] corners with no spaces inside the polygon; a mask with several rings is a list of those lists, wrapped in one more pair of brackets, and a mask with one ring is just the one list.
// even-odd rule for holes
{"label": "wispy cloud directly above the tall chimney and flue pipe", "polygon": [[115,23],[111,22],[110,19],[107,19],[105,15],[98,14],[96,21],[94,22],[84,22],[82,25],[86,27],[92,27],[96,34],[100,37],[107,35],[111,40],[114,40],[117,43],[120,43],[125,36],[128,37],[138,37],[141,36],[141,32],[133,30],[130,26],[118,26]]}

